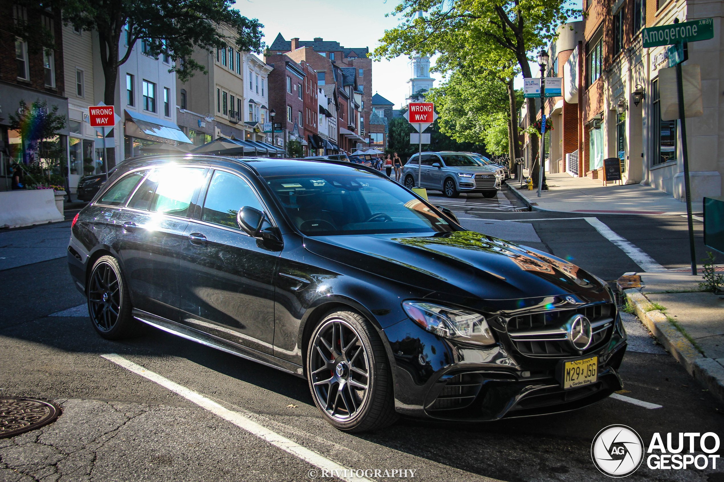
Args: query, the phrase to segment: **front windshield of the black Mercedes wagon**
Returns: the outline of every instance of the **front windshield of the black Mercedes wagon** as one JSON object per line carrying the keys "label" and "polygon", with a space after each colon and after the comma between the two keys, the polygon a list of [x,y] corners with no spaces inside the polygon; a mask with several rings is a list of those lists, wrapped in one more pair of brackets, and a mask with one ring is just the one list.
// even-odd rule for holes
{"label": "front windshield of the black Mercedes wagon", "polygon": [[266,181],[307,236],[452,231],[402,186],[371,174],[273,176]]}

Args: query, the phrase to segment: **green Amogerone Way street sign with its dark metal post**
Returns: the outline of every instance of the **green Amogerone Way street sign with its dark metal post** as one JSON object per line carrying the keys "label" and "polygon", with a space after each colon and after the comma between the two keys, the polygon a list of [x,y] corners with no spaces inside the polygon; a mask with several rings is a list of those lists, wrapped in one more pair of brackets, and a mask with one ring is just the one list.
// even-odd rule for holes
{"label": "green Amogerone Way street sign with its dark metal post", "polygon": [[691,183],[689,181],[689,150],[686,146],[686,118],[683,105],[683,79],[681,64],[688,59],[687,43],[714,38],[714,19],[702,18],[691,22],[674,19],[671,25],[644,28],[641,33],[645,48],[673,46],[668,49],[669,66],[676,68],[676,90],[678,94],[679,121],[681,122],[681,153],[683,158],[683,185],[686,191],[686,220],[689,224],[689,254],[691,274],[696,276],[696,249],[694,248],[694,220],[691,218]]}

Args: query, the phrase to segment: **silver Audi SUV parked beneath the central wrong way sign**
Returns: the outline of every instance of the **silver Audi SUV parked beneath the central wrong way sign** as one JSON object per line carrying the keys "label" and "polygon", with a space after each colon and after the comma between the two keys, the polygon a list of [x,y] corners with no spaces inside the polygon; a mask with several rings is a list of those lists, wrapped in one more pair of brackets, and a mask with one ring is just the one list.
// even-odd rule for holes
{"label": "silver Audi SUV parked beneath the central wrong way sign", "polygon": [[[405,187],[418,184],[418,157],[414,154],[403,166]],[[420,186],[442,191],[445,197],[458,197],[461,192],[479,192],[495,197],[500,190],[500,174],[493,166],[480,165],[464,152],[423,152],[419,165]]]}

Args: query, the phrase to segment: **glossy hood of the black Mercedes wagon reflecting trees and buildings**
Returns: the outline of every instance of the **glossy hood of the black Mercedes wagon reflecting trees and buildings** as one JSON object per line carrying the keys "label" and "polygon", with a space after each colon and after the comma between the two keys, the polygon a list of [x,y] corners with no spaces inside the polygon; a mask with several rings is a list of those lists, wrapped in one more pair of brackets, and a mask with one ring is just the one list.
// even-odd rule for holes
{"label": "glossy hood of the black Mercedes wagon reflecting trees and buildings", "polygon": [[314,236],[309,251],[418,288],[481,299],[520,299],[602,288],[571,262],[472,231]]}

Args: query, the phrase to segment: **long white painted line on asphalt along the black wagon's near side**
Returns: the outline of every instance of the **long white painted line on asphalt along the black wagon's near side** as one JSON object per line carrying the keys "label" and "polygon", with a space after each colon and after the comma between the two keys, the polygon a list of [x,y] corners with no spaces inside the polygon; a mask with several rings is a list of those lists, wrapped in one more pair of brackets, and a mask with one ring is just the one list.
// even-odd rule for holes
{"label": "long white painted line on asphalt along the black wagon's near side", "polygon": [[346,468],[343,465],[339,465],[337,462],[329,460],[327,457],[319,455],[318,453],[313,452],[306,447],[302,447],[300,444],[293,442],[290,439],[287,439],[287,437],[279,435],[277,434],[277,432],[271,431],[265,426],[256,423],[255,421],[251,421],[248,417],[244,416],[241,413],[229,410],[228,408],[224,408],[222,407],[222,405],[219,405],[218,403],[204,397],[203,395],[199,395],[193,390],[182,387],[180,384],[174,383],[171,380],[154,373],[153,371],[146,370],[145,368],[143,368],[143,366],[137,365],[136,363],[133,363],[132,361],[117,355],[116,353],[108,353],[101,356],[103,358],[106,358],[106,360],[108,361],[112,361],[113,363],[116,363],[117,365],[132,371],[135,374],[151,380],[151,382],[156,382],[157,384],[161,385],[161,387],[165,387],[172,392],[176,392],[178,395],[181,395],[186,400],[195,403],[201,408],[206,408],[206,410],[209,410],[211,413],[214,413],[215,415],[224,418],[224,420],[230,421],[235,426],[240,427],[241,429],[244,429],[245,431],[248,431],[251,434],[258,436],[260,439],[266,440],[266,442],[274,445],[274,447],[279,447],[285,452],[288,452],[295,457],[299,457],[301,460],[309,462],[312,465],[315,465],[316,467],[319,467],[321,469],[330,471],[337,470],[335,475],[337,475],[337,478],[341,478],[343,481],[372,482],[367,478],[343,476],[343,474],[345,473],[350,473],[351,469]]}

